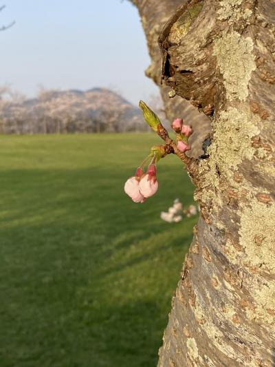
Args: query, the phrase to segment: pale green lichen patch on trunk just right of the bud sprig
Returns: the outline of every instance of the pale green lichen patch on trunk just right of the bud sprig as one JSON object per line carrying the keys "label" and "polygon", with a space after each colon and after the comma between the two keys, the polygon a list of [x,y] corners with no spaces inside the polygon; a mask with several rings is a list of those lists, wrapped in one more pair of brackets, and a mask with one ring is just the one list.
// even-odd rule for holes
{"label": "pale green lichen patch on trunk just right of the bud sprig", "polygon": [[[228,189],[229,182],[232,185],[236,183],[233,180],[234,170],[243,160],[254,157],[255,148],[251,138],[259,134],[259,120],[259,116],[252,114],[243,105],[240,109],[229,107],[214,120],[213,143],[208,147],[210,158],[200,162],[199,166],[206,185],[196,198],[211,208],[211,211],[217,211],[223,206],[221,192]],[[223,227],[222,223],[216,224]]]}

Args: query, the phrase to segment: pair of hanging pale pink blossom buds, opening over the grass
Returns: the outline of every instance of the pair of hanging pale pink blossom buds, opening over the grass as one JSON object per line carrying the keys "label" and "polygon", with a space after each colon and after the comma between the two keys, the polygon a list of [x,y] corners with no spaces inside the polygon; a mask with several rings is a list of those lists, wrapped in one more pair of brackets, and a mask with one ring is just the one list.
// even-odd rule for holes
{"label": "pair of hanging pale pink blossom buds, opening over the grass", "polygon": [[158,187],[157,167],[154,162],[151,162],[146,174],[144,174],[142,167],[137,168],[135,176],[126,180],[124,191],[134,202],[144,202],[157,192]]}

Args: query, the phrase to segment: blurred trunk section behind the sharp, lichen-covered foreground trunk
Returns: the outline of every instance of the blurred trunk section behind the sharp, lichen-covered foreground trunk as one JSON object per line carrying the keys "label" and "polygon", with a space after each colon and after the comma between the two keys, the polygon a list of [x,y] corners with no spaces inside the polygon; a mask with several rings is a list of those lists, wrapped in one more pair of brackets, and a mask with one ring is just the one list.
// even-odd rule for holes
{"label": "blurred trunk section behind the sharp, lichen-covered foreground trunk", "polygon": [[192,125],[194,134],[192,134],[190,138],[190,143],[192,144],[192,151],[190,154],[197,157],[203,153],[201,146],[203,140],[210,132],[210,120],[203,113],[199,113],[195,107],[180,96],[175,95],[173,98],[168,97],[168,92],[173,90],[165,83],[162,83],[162,54],[157,42],[165,23],[184,1],[132,0],[131,2],[134,3],[139,10],[142,26],[146,35],[148,52],[151,56],[152,62],[146,69],[146,75],[152,78],[159,86],[168,120],[172,121],[174,118],[180,117],[184,118],[186,123]]}

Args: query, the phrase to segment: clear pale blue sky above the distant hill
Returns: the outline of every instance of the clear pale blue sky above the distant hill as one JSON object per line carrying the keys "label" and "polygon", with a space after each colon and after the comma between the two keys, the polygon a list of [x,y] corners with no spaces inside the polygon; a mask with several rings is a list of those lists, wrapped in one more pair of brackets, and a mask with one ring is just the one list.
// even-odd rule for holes
{"label": "clear pale blue sky above the distant hill", "polygon": [[107,87],[137,105],[157,94],[142,25],[124,0],[2,0],[0,86],[32,97],[40,87]]}

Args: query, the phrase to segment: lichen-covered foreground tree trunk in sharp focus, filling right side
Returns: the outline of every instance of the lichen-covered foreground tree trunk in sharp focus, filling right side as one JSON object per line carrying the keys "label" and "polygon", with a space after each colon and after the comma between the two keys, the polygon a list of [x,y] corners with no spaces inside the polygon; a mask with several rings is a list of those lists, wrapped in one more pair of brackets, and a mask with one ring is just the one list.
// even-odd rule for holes
{"label": "lichen-covered foreground tree trunk in sharp focus, filling right side", "polygon": [[[157,6],[135,3],[146,32]],[[275,1],[173,3],[157,1],[158,21],[173,10],[159,37],[162,74],[210,116],[212,143],[187,167],[201,218],[159,367],[275,366]]]}

